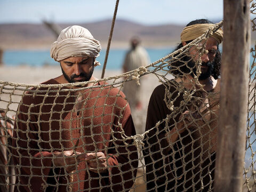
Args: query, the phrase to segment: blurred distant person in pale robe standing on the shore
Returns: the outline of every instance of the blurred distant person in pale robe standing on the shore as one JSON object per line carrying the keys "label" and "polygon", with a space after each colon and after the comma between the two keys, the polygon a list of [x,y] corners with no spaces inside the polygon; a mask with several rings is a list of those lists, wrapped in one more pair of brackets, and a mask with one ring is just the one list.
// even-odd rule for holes
{"label": "blurred distant person in pale robe standing on the shore", "polygon": [[[137,69],[141,66],[147,66],[149,63],[150,60],[148,53],[142,46],[140,46],[140,39],[133,37],[131,39],[131,50],[126,53],[123,63],[124,73]],[[123,92],[126,95],[132,110],[140,110],[142,108],[141,89],[135,81],[125,83]]]}

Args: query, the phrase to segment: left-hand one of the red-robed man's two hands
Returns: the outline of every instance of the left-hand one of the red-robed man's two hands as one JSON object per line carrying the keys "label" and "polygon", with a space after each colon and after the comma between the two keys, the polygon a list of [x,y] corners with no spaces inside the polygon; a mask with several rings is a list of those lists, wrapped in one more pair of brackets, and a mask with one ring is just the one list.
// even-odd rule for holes
{"label": "left-hand one of the red-robed man's two hands", "polygon": [[77,164],[81,162],[82,159],[86,157],[86,154],[82,154],[76,152],[74,154],[73,150],[66,150],[62,152],[54,153],[56,158],[54,158],[55,166],[64,167],[68,173],[76,170],[76,162]]}

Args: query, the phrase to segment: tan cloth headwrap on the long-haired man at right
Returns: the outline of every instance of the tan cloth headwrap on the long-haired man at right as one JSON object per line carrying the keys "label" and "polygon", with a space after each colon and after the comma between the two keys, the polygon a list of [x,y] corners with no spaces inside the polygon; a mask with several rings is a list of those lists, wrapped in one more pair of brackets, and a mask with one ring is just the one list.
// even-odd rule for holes
{"label": "tan cloth headwrap on the long-haired man at right", "polygon": [[[214,24],[212,23],[203,23],[203,24],[195,24],[188,27],[185,27],[180,34],[181,42],[187,42],[200,37],[201,35],[205,34],[210,27],[213,27]],[[223,31],[222,29],[218,29],[215,33],[211,36],[213,37],[218,44],[222,42],[223,39]]]}

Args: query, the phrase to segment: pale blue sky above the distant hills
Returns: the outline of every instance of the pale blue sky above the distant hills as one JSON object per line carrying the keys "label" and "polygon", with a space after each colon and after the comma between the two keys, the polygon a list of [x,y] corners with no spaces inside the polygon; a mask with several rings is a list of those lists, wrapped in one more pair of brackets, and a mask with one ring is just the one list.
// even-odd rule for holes
{"label": "pale blue sky above the distant hills", "polygon": [[[0,23],[94,22],[113,18],[116,0],[0,0]],[[117,19],[143,25],[223,18],[223,0],[119,0]]]}

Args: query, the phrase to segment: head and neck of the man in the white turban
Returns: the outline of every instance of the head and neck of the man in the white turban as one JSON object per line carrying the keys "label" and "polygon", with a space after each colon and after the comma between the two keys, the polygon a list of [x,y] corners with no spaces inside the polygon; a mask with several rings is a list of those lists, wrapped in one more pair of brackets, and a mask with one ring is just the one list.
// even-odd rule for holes
{"label": "head and neck of the man in the white turban", "polygon": [[81,26],[63,29],[57,41],[51,45],[51,57],[60,62],[63,73],[57,81],[75,83],[93,80],[94,66],[99,65],[95,58],[100,55],[100,50],[100,42],[93,38],[89,30]]}

